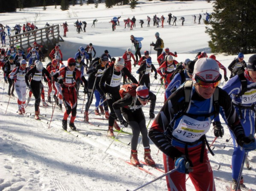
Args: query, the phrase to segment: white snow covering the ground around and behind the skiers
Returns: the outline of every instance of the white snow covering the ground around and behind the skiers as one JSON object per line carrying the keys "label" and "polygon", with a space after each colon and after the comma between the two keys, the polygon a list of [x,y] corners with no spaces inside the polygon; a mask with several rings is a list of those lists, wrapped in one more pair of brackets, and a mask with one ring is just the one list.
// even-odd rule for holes
{"label": "white snow covering the ground around and behind the skiers", "polygon": [[[193,23],[193,14],[198,16],[199,13],[204,14],[212,12],[212,4],[207,1],[139,1],[139,5],[134,10],[129,9],[129,6],[114,6],[111,9],[105,9],[105,4],[99,4],[96,9],[94,5],[70,6],[68,11],[61,11],[59,6],[54,9],[54,6],[47,7],[43,11],[42,7],[26,8],[22,11],[17,10],[15,13],[4,13],[0,15],[0,20],[3,25],[15,26],[16,23],[23,24],[26,21],[34,22],[38,28],[44,27],[45,23],[61,24],[65,21],[69,24],[67,37],[63,43],[59,43],[61,51],[64,54],[64,60],[73,57],[79,46],[86,46],[93,43],[96,48],[96,56],[100,56],[105,49],[108,49],[112,57],[122,56],[127,48],[131,46],[130,35],[135,37],[144,37],[142,41],[143,48],[150,51],[149,44],[154,41],[155,32],[160,33],[163,38],[165,47],[169,47],[170,51],[177,51],[178,61],[183,61],[185,58],[194,59],[198,51],[207,51],[208,56],[210,48],[207,41],[209,36],[204,33],[205,25],[203,19],[201,25]],[[171,12],[177,17],[177,26],[169,26],[167,14]],[[38,18],[35,21],[35,14],[38,13]],[[162,14],[166,17],[164,28],[156,28],[153,26],[153,14],[160,17]],[[147,27],[146,17],[151,17],[151,26]],[[111,24],[108,23],[112,17],[121,16],[120,26],[116,27],[116,31],[112,31]],[[135,16],[137,19],[136,28],[133,31],[124,29],[123,19]],[[185,17],[185,24],[181,26],[180,17]],[[95,28],[91,28],[92,21],[97,18]],[[86,33],[77,34],[73,23],[76,20],[85,20],[87,22]],[[143,28],[140,28],[139,20],[144,20]],[[198,22],[198,18],[197,18]],[[61,29],[62,30],[62,29]],[[61,35],[62,35],[61,31]],[[151,57],[155,66],[156,51],[151,50]],[[226,68],[236,55],[217,54],[216,58]],[[245,55],[247,61],[250,55]],[[64,62],[66,63],[66,62]],[[46,63],[44,63],[46,65]],[[132,68],[132,74],[136,78],[138,66]],[[223,71],[221,70],[223,74]],[[230,72],[228,71],[228,77]],[[159,79],[159,78],[158,78]],[[163,105],[164,89],[157,86],[159,80],[154,80],[154,75],[151,75],[151,91],[157,94],[157,103],[155,114]],[[224,80],[224,79],[223,79]],[[64,132],[61,128],[61,120],[63,112],[57,108],[52,116],[52,107],[41,107],[41,114],[46,114],[41,121],[36,121],[34,117],[34,99],[32,97],[26,112],[31,112],[26,116],[17,114],[17,100],[10,99],[7,95],[7,84],[3,83],[3,72],[0,71],[0,191],[125,191],[127,189],[134,190],[144,183],[154,179],[153,176],[123,162],[129,160],[130,134],[119,134],[117,140],[113,141],[107,137],[107,120],[95,120],[94,112],[90,114],[89,121],[96,126],[88,125],[82,122],[83,114],[81,108],[83,97],[78,101],[77,118],[75,121],[79,132],[70,131]],[[4,86],[4,89],[3,89]],[[47,95],[47,86],[44,83],[45,94]],[[16,94],[16,93],[15,93]],[[82,94],[82,89],[80,90]],[[9,101],[9,105],[8,105]],[[8,106],[8,108],[7,108]],[[6,110],[7,108],[7,110]],[[94,101],[89,111],[94,108]],[[149,123],[149,106],[143,108],[146,117],[146,125]],[[52,122],[49,126],[49,121],[52,116]],[[103,117],[103,116],[102,116]],[[233,151],[232,140],[226,142],[230,138],[230,133],[227,125],[221,119],[222,125],[225,127],[223,138],[218,138],[215,141],[215,156],[209,154],[212,169],[215,177],[224,179],[215,180],[216,190],[225,190],[226,185],[230,185],[231,180],[231,156]],[[152,120],[150,121],[150,125]],[[99,127],[97,127],[99,125]],[[148,128],[150,127],[148,125]],[[49,128],[48,128],[49,127]],[[98,129],[98,130],[95,130]],[[103,130],[103,131],[99,131]],[[130,128],[125,128],[125,131],[131,132]],[[117,135],[117,133],[115,133]],[[77,137],[78,135],[78,137]],[[207,138],[209,143],[214,139],[212,129],[208,132]],[[141,137],[140,137],[141,139]],[[140,142],[139,139],[139,142]],[[108,146],[111,144],[107,150]],[[224,149],[224,145],[226,146]],[[106,151],[107,150],[107,151]],[[151,155],[157,165],[163,169],[163,160],[161,151],[158,153],[158,148],[151,142]],[[138,156],[143,160],[143,146],[138,149]],[[250,166],[252,170],[247,170],[244,167],[243,176],[245,184],[248,187],[256,190],[255,177],[256,173],[256,154],[255,151],[249,153]],[[221,168],[218,170],[218,166]],[[163,173],[154,168],[143,165],[156,176]],[[187,190],[194,191],[195,188],[191,181],[186,182]],[[158,191],[167,190],[165,178],[142,188],[143,191]]]}

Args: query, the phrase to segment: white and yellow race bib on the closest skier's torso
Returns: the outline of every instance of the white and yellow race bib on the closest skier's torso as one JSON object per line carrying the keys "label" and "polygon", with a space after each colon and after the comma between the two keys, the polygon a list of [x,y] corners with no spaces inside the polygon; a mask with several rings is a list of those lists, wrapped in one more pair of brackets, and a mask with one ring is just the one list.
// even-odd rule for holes
{"label": "white and yellow race bib on the closest skier's torso", "polygon": [[[209,119],[209,118],[208,118]],[[193,143],[209,131],[211,120],[198,121],[184,115],[172,136],[178,140]]]}

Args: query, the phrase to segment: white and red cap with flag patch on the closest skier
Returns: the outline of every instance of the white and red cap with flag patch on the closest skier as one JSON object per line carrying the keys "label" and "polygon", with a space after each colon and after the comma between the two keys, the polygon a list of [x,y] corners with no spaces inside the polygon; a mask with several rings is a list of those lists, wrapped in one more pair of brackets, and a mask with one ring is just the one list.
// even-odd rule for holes
{"label": "white and red cap with flag patch on the closest skier", "polygon": [[204,82],[217,82],[221,80],[218,63],[211,58],[201,58],[196,61],[193,72],[193,80],[195,77]]}

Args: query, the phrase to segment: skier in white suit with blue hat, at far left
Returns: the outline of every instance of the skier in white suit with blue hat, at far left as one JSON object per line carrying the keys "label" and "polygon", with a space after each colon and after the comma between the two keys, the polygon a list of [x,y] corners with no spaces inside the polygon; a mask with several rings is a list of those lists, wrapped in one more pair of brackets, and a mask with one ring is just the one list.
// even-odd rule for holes
{"label": "skier in white suit with blue hat, at far left", "polygon": [[28,69],[26,68],[27,63],[26,60],[20,61],[20,66],[17,66],[12,70],[9,74],[9,78],[14,80],[15,83],[15,91],[18,96],[18,113],[20,115],[25,114],[25,103],[26,103],[26,81],[25,75]]}

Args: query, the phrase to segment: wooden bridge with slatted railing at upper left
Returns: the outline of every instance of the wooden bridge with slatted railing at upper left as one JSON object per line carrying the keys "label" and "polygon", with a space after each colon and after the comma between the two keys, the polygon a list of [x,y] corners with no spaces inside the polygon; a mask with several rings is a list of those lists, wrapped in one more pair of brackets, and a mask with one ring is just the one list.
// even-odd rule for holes
{"label": "wooden bridge with slatted railing at upper left", "polygon": [[52,25],[10,36],[10,45],[20,46],[25,52],[34,42],[44,46],[46,49],[48,49],[48,46],[55,46],[58,42],[64,42],[60,36],[59,25]]}

